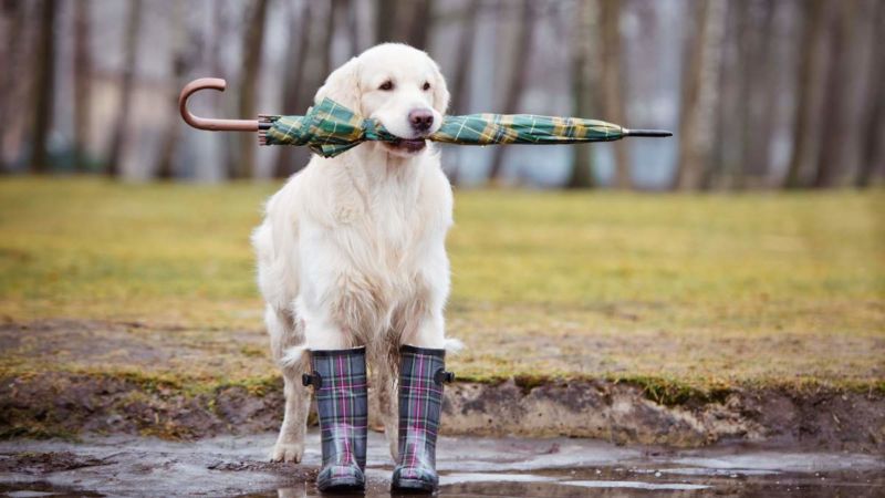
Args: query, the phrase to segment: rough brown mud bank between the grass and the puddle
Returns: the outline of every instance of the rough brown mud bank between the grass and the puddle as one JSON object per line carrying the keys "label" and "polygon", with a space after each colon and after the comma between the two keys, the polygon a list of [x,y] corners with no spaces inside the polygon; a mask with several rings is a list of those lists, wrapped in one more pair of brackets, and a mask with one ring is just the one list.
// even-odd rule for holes
{"label": "rough brown mud bank between the grass and the puddle", "polygon": [[[127,377],[48,372],[0,377],[6,437],[122,433],[195,439],[279,427],[282,385],[264,393],[221,386],[186,394]],[[617,444],[699,447],[771,442],[785,448],[885,453],[885,397],[819,390],[733,390],[721,401],[667,406],[628,384],[513,381],[447,388],[449,435],[592,437]],[[377,426],[377,421],[375,421]]]}

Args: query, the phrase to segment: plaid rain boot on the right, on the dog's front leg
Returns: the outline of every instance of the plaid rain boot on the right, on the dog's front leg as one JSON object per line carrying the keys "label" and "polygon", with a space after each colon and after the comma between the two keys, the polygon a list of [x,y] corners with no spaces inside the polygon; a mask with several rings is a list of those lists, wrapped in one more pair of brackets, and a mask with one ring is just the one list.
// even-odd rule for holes
{"label": "plaid rain boot on the right, on the dog's front leg", "polygon": [[399,461],[394,468],[394,491],[433,492],[436,473],[436,434],[442,412],[446,350],[404,345],[399,349]]}

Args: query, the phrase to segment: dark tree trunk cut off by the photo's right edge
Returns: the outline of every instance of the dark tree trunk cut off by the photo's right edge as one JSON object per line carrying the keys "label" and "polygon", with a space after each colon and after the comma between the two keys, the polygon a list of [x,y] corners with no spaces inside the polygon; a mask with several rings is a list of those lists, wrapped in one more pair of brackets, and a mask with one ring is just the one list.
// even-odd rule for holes
{"label": "dark tree trunk cut off by the photo's right edge", "polygon": [[[885,25],[885,7],[882,2],[874,3],[874,25]],[[872,31],[872,43],[875,43],[879,33]],[[878,170],[885,170],[885,147],[882,137],[885,136],[885,51],[873,51],[873,66],[870,71],[870,86],[866,107],[861,122],[863,146],[861,149],[861,167],[854,185],[865,188],[872,185],[873,177]]]}

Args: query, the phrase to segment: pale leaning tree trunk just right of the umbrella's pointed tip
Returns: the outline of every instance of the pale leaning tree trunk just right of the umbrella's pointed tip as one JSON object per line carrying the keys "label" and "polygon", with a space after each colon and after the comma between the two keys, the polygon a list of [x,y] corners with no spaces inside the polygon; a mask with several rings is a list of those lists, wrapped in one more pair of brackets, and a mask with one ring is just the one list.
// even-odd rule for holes
{"label": "pale leaning tree trunk just right of the umbrella's pointed tip", "polygon": [[695,35],[689,39],[688,63],[684,65],[679,112],[676,187],[680,190],[701,187],[714,148],[714,108],[727,8],[722,0],[700,0],[696,7],[697,23]]}

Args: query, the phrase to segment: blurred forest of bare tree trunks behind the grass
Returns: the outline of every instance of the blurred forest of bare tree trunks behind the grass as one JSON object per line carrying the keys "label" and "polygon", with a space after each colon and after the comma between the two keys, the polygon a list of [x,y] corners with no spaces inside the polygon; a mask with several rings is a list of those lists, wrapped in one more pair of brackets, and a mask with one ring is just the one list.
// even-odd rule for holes
{"label": "blurred forest of bare tree trunks behind the grass", "polygon": [[[450,112],[676,132],[568,147],[449,147],[459,185],[826,188],[885,174],[881,0],[2,0],[0,170],[127,180],[285,177],[304,149],[188,128],[300,114],[350,56],[436,59]],[[204,92],[210,93],[210,92]]]}

